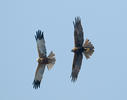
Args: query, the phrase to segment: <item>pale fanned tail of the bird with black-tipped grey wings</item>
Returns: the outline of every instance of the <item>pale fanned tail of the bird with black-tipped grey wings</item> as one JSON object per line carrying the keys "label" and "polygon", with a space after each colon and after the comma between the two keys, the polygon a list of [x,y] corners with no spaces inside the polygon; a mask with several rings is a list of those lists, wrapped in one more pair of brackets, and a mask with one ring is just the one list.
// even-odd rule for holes
{"label": "pale fanned tail of the bird with black-tipped grey wings", "polygon": [[49,64],[47,64],[47,68],[48,70],[50,70],[56,62],[55,54],[51,51],[50,54],[48,55],[48,58]]}

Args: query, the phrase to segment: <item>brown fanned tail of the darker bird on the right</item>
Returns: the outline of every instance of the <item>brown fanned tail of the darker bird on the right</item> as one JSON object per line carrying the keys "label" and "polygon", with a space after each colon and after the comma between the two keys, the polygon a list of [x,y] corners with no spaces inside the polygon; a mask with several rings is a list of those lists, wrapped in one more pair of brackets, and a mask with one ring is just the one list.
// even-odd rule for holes
{"label": "brown fanned tail of the darker bird on the right", "polygon": [[92,56],[92,54],[94,52],[94,46],[88,39],[86,39],[83,47],[84,47],[84,52],[83,53],[84,53],[86,59],[89,59],[90,56]]}

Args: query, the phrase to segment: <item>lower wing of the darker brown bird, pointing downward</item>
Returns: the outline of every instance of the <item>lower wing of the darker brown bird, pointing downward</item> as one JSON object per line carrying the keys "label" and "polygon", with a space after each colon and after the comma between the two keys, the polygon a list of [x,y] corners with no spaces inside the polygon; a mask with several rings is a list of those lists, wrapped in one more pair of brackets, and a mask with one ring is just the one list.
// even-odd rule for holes
{"label": "lower wing of the darker brown bird, pointing downward", "polygon": [[72,73],[71,73],[71,78],[72,78],[73,82],[75,82],[78,78],[78,73],[79,73],[81,65],[82,65],[82,58],[83,58],[82,53],[75,53],[74,54]]}

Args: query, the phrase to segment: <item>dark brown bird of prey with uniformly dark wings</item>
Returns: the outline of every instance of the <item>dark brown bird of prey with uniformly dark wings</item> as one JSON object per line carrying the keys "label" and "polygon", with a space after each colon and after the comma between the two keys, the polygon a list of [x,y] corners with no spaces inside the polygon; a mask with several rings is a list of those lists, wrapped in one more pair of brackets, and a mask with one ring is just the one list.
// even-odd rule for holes
{"label": "dark brown bird of prey with uniformly dark wings", "polygon": [[78,73],[82,65],[83,54],[85,55],[86,59],[90,58],[90,56],[94,52],[94,46],[91,44],[91,42],[88,39],[86,39],[85,43],[83,44],[84,33],[83,33],[80,17],[76,17],[73,24],[74,24],[75,47],[72,49],[72,52],[74,52],[74,59],[72,65],[71,80],[72,82],[75,82],[77,80]]}

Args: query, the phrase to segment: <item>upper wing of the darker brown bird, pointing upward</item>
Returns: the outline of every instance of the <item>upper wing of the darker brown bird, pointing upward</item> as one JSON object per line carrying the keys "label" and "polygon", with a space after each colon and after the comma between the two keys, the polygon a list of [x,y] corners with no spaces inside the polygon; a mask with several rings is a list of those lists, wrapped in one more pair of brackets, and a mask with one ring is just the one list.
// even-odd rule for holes
{"label": "upper wing of the darker brown bird, pointing upward", "polygon": [[75,22],[73,22],[73,24],[74,24],[75,47],[81,47],[84,42],[84,33],[83,33],[80,17],[76,17]]}

